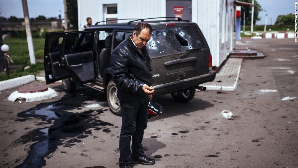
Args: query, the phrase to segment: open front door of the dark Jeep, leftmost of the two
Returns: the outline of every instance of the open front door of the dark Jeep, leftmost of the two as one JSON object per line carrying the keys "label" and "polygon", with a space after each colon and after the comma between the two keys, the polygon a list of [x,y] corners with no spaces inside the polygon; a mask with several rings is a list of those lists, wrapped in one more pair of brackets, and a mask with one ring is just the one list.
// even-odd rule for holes
{"label": "open front door of the dark Jeep, leftmost of the two", "polygon": [[63,37],[63,32],[47,33],[46,35],[43,65],[47,84],[70,76],[66,69],[59,66]]}

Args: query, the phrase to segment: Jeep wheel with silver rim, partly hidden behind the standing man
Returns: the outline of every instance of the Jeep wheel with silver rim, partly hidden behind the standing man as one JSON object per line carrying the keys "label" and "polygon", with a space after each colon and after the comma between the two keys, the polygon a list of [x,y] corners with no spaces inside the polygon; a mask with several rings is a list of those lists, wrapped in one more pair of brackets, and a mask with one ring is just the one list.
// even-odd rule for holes
{"label": "Jeep wheel with silver rim, partly hidden behind the standing man", "polygon": [[117,98],[117,86],[113,80],[110,80],[107,86],[106,96],[111,112],[117,116],[121,116],[120,102]]}

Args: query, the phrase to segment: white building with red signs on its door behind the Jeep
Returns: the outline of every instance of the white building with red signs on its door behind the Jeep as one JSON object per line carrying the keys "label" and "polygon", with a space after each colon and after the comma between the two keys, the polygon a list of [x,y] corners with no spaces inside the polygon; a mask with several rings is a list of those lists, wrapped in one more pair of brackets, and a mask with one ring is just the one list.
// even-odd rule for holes
{"label": "white building with red signs on its door behind the Jeep", "polygon": [[218,69],[235,46],[234,0],[78,0],[78,30],[91,17],[93,24],[111,19],[182,17],[199,25]]}

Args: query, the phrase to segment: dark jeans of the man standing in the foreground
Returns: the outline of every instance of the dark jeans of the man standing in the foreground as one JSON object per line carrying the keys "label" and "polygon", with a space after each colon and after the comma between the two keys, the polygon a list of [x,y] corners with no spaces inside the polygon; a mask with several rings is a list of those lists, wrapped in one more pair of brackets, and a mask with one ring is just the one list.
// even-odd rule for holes
{"label": "dark jeans of the man standing in the foreground", "polygon": [[[120,101],[122,127],[119,139],[120,158],[122,165],[131,164],[131,155],[143,155],[143,135],[147,128],[147,109],[149,97],[141,97],[137,94],[127,94],[117,91]],[[130,152],[130,139],[132,144]]]}

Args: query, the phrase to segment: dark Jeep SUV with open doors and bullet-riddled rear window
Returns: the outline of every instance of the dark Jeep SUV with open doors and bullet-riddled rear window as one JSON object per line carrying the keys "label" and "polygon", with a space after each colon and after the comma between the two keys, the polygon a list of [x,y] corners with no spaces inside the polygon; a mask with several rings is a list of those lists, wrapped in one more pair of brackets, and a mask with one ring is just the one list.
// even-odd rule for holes
{"label": "dark Jeep SUV with open doors and bullet-riddled rear window", "polygon": [[[200,84],[213,81],[210,49],[196,23],[180,18],[134,19],[128,23],[98,24],[85,31],[47,33],[44,48],[46,83],[62,79],[68,92],[84,84],[106,92],[110,110],[121,115],[117,87],[109,68],[111,52],[133,32],[138,22],[153,28],[147,43],[154,95],[171,93],[178,102],[192,100]],[[176,20],[178,19],[178,20]]]}

